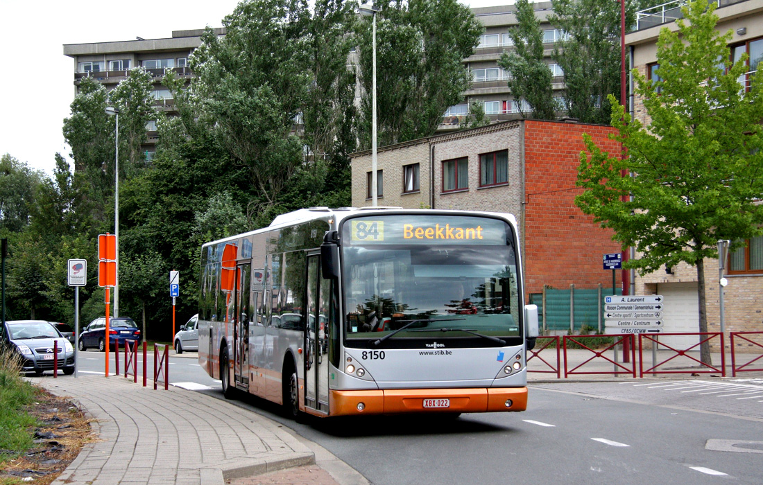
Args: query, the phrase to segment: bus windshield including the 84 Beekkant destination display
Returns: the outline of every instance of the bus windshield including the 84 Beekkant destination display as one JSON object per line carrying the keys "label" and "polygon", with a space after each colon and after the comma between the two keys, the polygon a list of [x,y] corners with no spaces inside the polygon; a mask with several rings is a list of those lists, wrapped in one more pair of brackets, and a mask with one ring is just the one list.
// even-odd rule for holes
{"label": "bus windshield including the 84 Beekkant destination display", "polygon": [[[513,230],[503,220],[389,215],[343,226],[346,340],[496,345],[521,336]],[[460,344],[459,344],[460,342]]]}

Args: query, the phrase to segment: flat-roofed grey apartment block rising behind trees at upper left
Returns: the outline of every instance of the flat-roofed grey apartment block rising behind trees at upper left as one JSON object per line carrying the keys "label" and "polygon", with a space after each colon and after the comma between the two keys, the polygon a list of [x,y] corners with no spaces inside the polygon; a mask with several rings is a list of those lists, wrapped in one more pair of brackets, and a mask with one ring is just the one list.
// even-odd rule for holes
{"label": "flat-roofed grey apartment block rising behind trees at upper left", "polygon": [[[98,79],[107,89],[112,89],[127,77],[134,67],[143,67],[154,79],[153,105],[158,112],[174,113],[172,94],[162,85],[162,79],[170,70],[182,78],[191,79],[188,56],[201,45],[204,31],[173,31],[166,39],[123,40],[118,42],[70,43],[64,44],[63,54],[74,60],[75,95],[79,92],[79,82],[85,77]],[[215,29],[217,35],[224,35],[223,28]],[[143,146],[146,160],[153,158],[156,151],[156,121],[146,125],[148,141]]]}

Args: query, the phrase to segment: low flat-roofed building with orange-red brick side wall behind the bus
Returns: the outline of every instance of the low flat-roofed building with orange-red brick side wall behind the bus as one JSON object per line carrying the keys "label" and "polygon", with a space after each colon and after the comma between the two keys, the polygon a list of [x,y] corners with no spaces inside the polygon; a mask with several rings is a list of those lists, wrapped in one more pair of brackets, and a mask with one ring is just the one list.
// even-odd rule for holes
{"label": "low flat-roofed building with orange-red brick side wall behind the bus", "polygon": [[[602,269],[602,255],[620,248],[574,199],[581,192],[575,181],[582,134],[620,153],[620,143],[607,138],[612,132],[600,125],[517,120],[386,146],[377,156],[378,205],[514,214],[526,297],[540,294],[544,284],[609,287],[612,274]],[[371,152],[352,158],[353,206],[370,206]]]}

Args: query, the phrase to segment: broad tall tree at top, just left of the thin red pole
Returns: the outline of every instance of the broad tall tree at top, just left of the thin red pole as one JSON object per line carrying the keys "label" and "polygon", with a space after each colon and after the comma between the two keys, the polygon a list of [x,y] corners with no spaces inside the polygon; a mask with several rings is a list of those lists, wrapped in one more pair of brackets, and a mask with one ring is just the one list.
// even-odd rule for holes
{"label": "broad tall tree at top, just left of the thin red pole", "polygon": [[[565,73],[567,112],[583,123],[605,124],[607,96],[620,97],[620,2],[552,0],[552,5],[549,21],[565,35],[553,57]],[[626,25],[634,15],[635,3],[626,2]]]}

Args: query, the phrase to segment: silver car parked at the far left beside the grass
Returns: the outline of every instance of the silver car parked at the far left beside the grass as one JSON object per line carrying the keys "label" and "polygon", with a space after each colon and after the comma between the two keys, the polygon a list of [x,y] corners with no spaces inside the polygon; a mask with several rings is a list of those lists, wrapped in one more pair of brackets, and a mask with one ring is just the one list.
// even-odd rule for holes
{"label": "silver car parked at the far left beside the grass", "polygon": [[[53,361],[64,374],[74,374],[74,348],[61,332],[45,320],[8,320],[5,335],[21,358],[21,370],[42,375],[53,370]],[[54,345],[56,344],[57,345]],[[58,354],[54,348],[57,346]]]}

